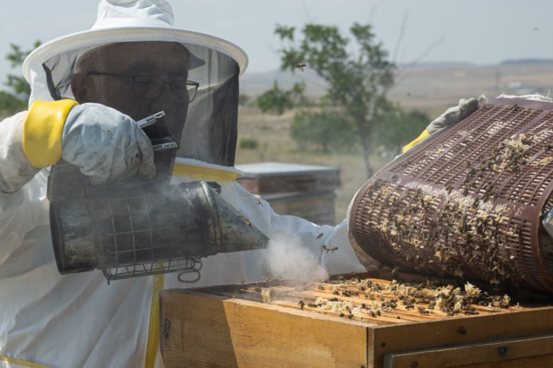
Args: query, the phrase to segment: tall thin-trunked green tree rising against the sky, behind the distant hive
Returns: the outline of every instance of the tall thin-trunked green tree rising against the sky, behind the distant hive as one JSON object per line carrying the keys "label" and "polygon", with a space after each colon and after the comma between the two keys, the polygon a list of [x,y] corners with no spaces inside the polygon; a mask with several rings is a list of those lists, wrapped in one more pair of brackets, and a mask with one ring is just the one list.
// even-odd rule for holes
{"label": "tall thin-trunked green tree rising against the sky, behind the distant hive", "polygon": [[[295,28],[279,26],[275,33],[283,42],[281,69],[310,68],[328,84],[325,101],[341,109],[362,147],[366,173],[373,175],[369,154],[375,125],[393,108],[386,98],[393,86],[395,65],[375,40],[372,26],[353,23],[353,43],[335,26],[307,24],[296,40]],[[354,50],[350,51],[350,50]],[[348,123],[349,124],[349,123]]]}

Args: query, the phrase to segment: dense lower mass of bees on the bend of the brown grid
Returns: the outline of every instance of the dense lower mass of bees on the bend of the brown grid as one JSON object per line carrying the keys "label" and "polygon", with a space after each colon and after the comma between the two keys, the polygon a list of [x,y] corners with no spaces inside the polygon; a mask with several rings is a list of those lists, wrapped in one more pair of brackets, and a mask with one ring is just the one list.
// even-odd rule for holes
{"label": "dense lower mass of bees on the bend of the brown grid", "polygon": [[[458,191],[429,186],[404,188],[402,195],[389,186],[375,186],[366,210],[380,220],[371,229],[397,260],[431,269],[438,275],[462,278],[467,269],[499,284],[512,275],[514,255],[505,255],[507,210]],[[515,229],[516,231],[516,229]],[[520,229],[518,229],[520,231]],[[478,267],[475,265],[478,264]]]}

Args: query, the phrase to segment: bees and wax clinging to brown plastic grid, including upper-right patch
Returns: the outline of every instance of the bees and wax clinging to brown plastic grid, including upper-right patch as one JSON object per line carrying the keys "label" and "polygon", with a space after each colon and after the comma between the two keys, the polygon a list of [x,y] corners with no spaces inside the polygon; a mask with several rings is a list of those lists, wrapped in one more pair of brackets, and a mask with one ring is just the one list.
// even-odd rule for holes
{"label": "bees and wax clinging to brown plastic grid, including upper-right patch", "polygon": [[[494,179],[526,165],[529,148],[542,138],[518,134],[504,139],[476,164],[467,163],[456,189],[375,180],[365,200],[366,224],[381,240],[375,244],[416,270],[431,269],[440,276],[462,278],[469,271],[493,285],[523,278],[516,268],[521,224],[509,220],[505,204],[495,203]],[[543,146],[543,152],[549,148]]]}

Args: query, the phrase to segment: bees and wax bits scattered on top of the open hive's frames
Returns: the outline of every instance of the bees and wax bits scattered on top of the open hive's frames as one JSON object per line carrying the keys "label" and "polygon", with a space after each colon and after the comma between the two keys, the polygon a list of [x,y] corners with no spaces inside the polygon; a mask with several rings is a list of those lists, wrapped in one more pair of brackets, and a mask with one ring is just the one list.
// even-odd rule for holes
{"label": "bees and wax bits scattered on top of the open hive's frames", "polygon": [[421,316],[433,313],[469,316],[479,314],[480,308],[498,310],[512,307],[509,296],[491,296],[469,283],[462,290],[430,281],[410,284],[395,280],[352,279],[321,282],[315,287],[331,295],[328,298],[319,297],[314,302],[299,300],[300,309],[355,320],[379,316],[401,320],[402,311],[415,311]]}

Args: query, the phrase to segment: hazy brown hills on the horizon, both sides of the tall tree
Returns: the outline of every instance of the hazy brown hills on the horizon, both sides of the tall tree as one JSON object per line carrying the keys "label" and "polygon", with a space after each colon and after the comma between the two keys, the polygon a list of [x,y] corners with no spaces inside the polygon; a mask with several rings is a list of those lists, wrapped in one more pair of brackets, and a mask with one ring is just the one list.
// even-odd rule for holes
{"label": "hazy brown hills on the horizon, both sides of the tall tree", "polygon": [[[272,88],[288,89],[294,82],[304,81],[311,97],[320,97],[326,88],[309,66],[303,72],[276,70],[273,72],[246,72],[240,79],[241,93],[256,97]],[[496,97],[541,93],[553,89],[553,60],[521,59],[500,64],[477,66],[469,63],[431,63],[399,66],[395,86],[388,93],[393,101],[406,108],[426,110],[430,115],[456,105],[460,98]]]}

